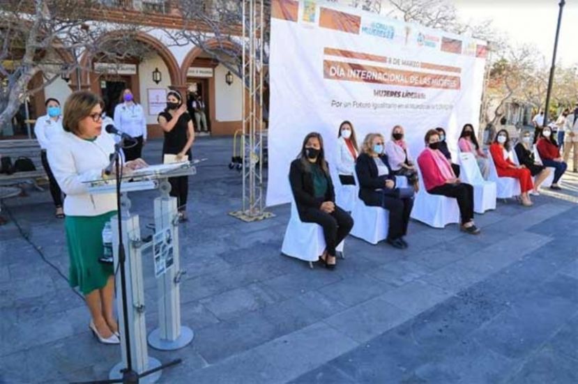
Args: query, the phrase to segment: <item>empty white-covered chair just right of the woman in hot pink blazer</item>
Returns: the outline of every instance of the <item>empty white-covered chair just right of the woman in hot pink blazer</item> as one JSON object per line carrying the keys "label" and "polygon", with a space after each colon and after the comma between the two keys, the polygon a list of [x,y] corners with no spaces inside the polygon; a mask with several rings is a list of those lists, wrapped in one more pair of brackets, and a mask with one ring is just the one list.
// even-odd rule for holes
{"label": "empty white-covered chair just right of the woman in hot pink blazer", "polygon": [[485,181],[473,153],[459,153],[459,168],[464,183],[473,187],[473,210],[476,213],[485,213],[486,210],[496,209],[496,183]]}

